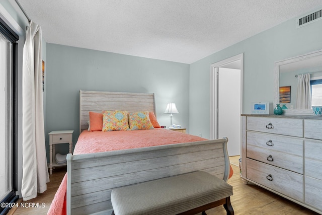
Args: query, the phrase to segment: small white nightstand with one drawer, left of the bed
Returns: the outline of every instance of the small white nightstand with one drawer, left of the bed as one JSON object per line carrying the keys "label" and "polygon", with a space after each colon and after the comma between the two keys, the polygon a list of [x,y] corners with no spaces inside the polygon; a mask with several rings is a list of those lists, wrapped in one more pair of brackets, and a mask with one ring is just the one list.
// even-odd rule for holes
{"label": "small white nightstand with one drawer, left of the bed", "polygon": [[59,166],[66,166],[66,164],[57,164],[55,162],[55,145],[69,144],[69,152],[72,153],[72,133],[74,130],[55,130],[49,134],[49,174],[52,174],[52,169]]}

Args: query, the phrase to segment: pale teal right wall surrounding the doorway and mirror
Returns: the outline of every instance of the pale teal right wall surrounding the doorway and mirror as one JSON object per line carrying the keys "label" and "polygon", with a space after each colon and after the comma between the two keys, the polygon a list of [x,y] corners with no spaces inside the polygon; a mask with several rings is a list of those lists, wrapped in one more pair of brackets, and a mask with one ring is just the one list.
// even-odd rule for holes
{"label": "pale teal right wall surrounding the doorway and mirror", "polygon": [[244,53],[243,113],[253,102],[274,103],[274,63],[322,49],[322,20],[296,28],[295,19],[190,64],[190,133],[210,137],[210,65]]}

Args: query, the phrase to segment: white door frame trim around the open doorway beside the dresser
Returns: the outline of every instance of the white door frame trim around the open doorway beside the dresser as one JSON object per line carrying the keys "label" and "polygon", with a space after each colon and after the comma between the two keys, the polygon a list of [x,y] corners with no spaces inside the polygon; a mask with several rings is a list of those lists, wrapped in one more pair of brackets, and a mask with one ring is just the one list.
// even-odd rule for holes
{"label": "white door frame trim around the open doorway beside the dresser", "polygon": [[211,92],[210,92],[210,139],[218,138],[218,73],[219,67],[240,60],[240,113],[243,113],[243,77],[244,54],[237,54],[227,59],[211,64]]}

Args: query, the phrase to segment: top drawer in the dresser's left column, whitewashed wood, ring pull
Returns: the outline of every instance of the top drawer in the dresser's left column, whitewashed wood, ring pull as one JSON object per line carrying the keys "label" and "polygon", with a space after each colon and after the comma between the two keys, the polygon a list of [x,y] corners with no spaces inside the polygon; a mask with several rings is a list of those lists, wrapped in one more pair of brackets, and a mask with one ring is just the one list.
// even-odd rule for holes
{"label": "top drawer in the dresser's left column, whitewashed wood, ring pull", "polygon": [[247,130],[303,137],[303,120],[274,117],[247,117]]}

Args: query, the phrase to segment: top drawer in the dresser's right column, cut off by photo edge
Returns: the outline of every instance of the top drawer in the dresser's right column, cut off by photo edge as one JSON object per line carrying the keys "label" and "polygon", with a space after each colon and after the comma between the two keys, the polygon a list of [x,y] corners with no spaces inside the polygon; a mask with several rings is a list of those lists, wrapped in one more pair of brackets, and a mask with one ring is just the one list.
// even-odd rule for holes
{"label": "top drawer in the dresser's right column, cut off by photo edge", "polygon": [[304,137],[322,140],[322,120],[304,119]]}

